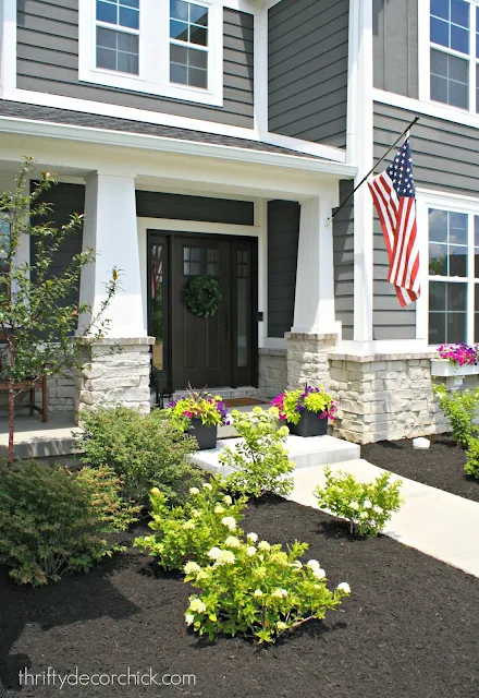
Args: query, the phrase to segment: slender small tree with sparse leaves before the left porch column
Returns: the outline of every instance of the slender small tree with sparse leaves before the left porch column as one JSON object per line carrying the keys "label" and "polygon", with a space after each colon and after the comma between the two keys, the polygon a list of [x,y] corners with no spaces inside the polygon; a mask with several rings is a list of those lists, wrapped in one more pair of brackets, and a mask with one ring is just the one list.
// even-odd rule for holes
{"label": "slender small tree with sparse leaves before the left porch column", "polygon": [[[69,296],[77,291],[82,269],[95,262],[95,252],[75,254],[61,274],[53,274],[54,255],[67,236],[78,231],[83,214],[57,229],[41,220],[52,212],[42,195],[56,183],[42,172],[27,192],[35,163],[25,157],[15,177],[15,188],[0,193],[0,329],[5,348],[0,354],[0,380],[9,392],[9,464],[13,462],[14,400],[44,375],[64,373],[82,365],[85,345],[105,336],[109,321],[105,311],[116,292],[119,273],[112,269],[106,296],[94,313],[90,305]],[[30,263],[19,262],[23,236],[32,240]],[[78,318],[88,317],[78,328]],[[19,384],[23,383],[23,387]]]}

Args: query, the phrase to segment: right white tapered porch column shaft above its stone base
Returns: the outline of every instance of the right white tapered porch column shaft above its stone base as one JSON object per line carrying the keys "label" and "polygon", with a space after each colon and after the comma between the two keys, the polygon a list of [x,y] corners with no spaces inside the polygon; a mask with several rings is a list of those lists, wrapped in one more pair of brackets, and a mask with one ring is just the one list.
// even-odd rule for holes
{"label": "right white tapered porch column shaft above its stone base", "polygon": [[332,205],[319,197],[302,203],[292,333],[337,333],[334,316]]}

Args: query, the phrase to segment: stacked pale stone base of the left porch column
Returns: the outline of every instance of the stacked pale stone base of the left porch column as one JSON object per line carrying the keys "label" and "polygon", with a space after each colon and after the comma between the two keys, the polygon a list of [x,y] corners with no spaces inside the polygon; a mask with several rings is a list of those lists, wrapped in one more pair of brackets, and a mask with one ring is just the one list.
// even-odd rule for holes
{"label": "stacked pale stone base of the left porch column", "polygon": [[153,337],[98,339],[85,347],[77,377],[76,411],[102,404],[150,411],[150,346]]}

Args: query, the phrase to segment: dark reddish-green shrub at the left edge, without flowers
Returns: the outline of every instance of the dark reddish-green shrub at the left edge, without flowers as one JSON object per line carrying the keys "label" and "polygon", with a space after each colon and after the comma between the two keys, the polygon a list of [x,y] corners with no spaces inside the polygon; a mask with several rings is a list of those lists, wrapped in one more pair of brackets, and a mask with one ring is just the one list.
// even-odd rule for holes
{"label": "dark reddish-green shrub at the left edge, without flowers", "polygon": [[123,550],[106,540],[134,520],[108,468],[70,472],[34,460],[0,466],[0,562],[17,583],[58,581]]}

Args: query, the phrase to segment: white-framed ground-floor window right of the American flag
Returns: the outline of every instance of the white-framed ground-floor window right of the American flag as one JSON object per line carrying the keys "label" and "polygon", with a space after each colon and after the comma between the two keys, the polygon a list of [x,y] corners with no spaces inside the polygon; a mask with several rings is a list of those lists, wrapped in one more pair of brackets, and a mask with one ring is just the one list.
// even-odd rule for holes
{"label": "white-framed ground-floor window right of the American flag", "polygon": [[430,345],[479,341],[478,214],[428,208]]}

